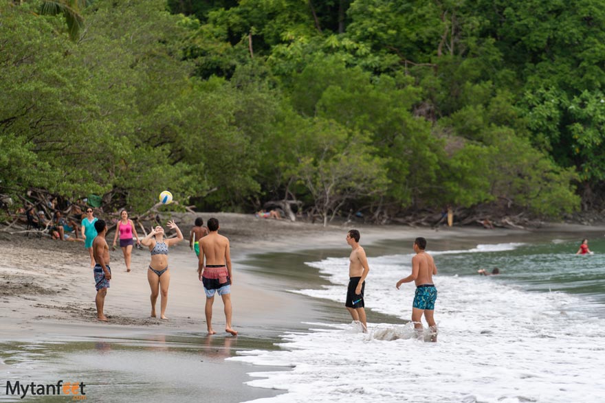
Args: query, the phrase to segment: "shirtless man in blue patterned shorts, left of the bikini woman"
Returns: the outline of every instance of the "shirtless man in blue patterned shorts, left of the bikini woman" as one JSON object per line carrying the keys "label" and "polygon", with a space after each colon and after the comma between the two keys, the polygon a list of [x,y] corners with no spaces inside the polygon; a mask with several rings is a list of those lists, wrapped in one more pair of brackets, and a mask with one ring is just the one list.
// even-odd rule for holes
{"label": "shirtless man in blue patterned shorts, left of the bikini woman", "polygon": [[109,246],[105,240],[107,233],[107,225],[104,220],[97,220],[94,223],[97,230],[97,236],[92,241],[92,253],[95,261],[94,277],[97,296],[95,302],[97,305],[97,319],[107,322],[107,316],[103,314],[103,305],[105,303],[105,295],[109,288],[109,280],[111,280],[111,268],[109,268]]}

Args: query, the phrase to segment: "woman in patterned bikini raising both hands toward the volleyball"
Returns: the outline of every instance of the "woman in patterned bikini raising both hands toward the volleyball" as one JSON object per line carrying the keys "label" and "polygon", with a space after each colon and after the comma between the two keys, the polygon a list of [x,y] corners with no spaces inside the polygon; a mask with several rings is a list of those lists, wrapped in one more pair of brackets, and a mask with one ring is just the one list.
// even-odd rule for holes
{"label": "woman in patterned bikini raising both hands toward the volleyball", "polygon": [[177,238],[164,240],[164,229],[158,225],[141,242],[144,246],[149,246],[151,252],[151,263],[147,270],[147,280],[151,287],[151,317],[155,318],[155,301],[157,301],[159,292],[162,292],[159,312],[161,319],[168,319],[164,315],[166,313],[166,303],[168,303],[168,286],[170,285],[168,246],[173,246],[183,240],[183,234],[174,221],[168,221],[166,225],[168,225],[168,228],[177,231]]}

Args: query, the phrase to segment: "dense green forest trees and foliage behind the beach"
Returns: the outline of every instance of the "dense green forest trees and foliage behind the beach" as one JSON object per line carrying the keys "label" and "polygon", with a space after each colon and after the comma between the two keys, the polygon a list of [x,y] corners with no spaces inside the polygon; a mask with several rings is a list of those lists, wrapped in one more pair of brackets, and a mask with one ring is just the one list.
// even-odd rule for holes
{"label": "dense green forest trees and foliage behind the beach", "polygon": [[602,0],[0,0],[0,194],[602,207]]}

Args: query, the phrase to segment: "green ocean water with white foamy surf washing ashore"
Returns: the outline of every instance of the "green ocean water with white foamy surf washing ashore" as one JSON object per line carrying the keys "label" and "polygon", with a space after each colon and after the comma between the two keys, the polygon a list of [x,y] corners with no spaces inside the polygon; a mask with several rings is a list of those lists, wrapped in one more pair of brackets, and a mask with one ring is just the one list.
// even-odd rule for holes
{"label": "green ocean water with white foamy surf washing ashore", "polygon": [[[406,323],[415,286],[395,288],[412,254],[370,257],[366,311],[401,324],[369,323],[363,334],[354,323],[309,323],[284,334],[282,349],[228,359],[292,368],[252,373],[250,386],[287,391],[255,402],[604,402],[605,242],[591,242],[589,256],[574,254],[578,243],[428,249],[439,269],[437,343]],[[329,284],[292,291],[344,304],[348,265],[348,253],[307,262]],[[476,273],[494,267],[503,274]]]}

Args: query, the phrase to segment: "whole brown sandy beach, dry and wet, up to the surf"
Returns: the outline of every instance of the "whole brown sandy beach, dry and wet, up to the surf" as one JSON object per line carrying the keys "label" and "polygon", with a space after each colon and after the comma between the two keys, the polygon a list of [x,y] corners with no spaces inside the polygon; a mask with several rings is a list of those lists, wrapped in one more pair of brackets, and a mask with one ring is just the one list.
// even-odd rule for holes
{"label": "whole brown sandy beach, dry and wet, up to the surf", "polygon": [[[498,237],[528,235],[517,230],[433,231],[358,223],[322,228],[241,214],[201,216],[204,220],[219,218],[219,232],[231,240],[233,325],[239,336],[223,332],[223,306],[218,299],[213,312],[218,334],[206,335],[205,297],[197,279],[197,258],[187,239],[170,249],[168,321],[149,317],[148,251],[133,249],[131,273],[126,273],[120,249],[111,252],[113,279],[105,302],[109,323],[95,319],[96,291],[83,244],[21,236],[0,239],[3,378],[9,378],[9,372],[10,378],[22,377],[28,382],[79,376],[91,385],[91,396],[111,397],[108,401],[142,401],[148,395],[188,401],[199,393],[219,402],[267,397],[279,392],[242,383],[250,379],[247,373],[254,367],[224,358],[238,349],[278,348],[273,345],[278,336],[285,331],[306,331],[304,322],[350,321],[347,311],[336,303],[287,292],[322,281],[316,273],[303,273],[300,268],[322,255],[347,253],[347,229],[360,229],[361,243],[373,244],[369,250],[375,254],[397,249],[399,241],[393,240],[401,240],[400,248],[405,250],[417,236],[443,242],[489,237],[498,242]],[[187,238],[194,217],[175,214],[173,218]],[[107,239],[111,244],[113,233]],[[369,312],[369,321],[393,320],[383,316]],[[112,382],[110,392],[107,385]],[[187,387],[179,388],[179,382]]]}

